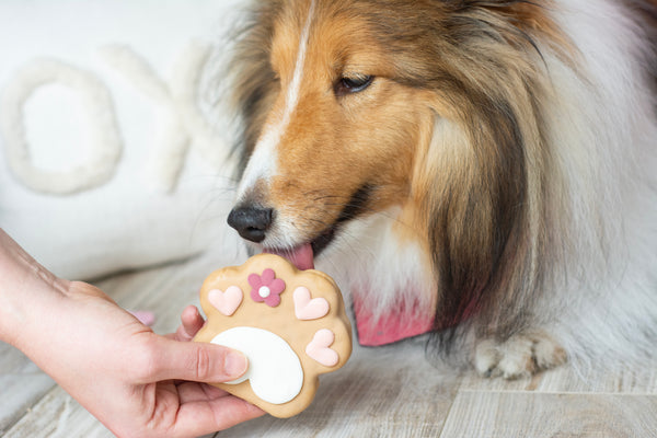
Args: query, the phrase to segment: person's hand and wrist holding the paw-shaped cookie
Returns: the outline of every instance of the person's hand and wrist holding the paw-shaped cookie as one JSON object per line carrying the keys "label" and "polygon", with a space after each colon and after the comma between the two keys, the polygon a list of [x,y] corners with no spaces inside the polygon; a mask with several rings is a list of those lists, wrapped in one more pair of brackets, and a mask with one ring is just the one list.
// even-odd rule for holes
{"label": "person's hand and wrist holding the paw-shaped cookie", "polygon": [[228,348],[189,343],[195,308],[160,336],[100,289],[56,278],[0,230],[0,338],[23,350],[119,437],[195,437],[263,412],[218,388],[246,370]]}

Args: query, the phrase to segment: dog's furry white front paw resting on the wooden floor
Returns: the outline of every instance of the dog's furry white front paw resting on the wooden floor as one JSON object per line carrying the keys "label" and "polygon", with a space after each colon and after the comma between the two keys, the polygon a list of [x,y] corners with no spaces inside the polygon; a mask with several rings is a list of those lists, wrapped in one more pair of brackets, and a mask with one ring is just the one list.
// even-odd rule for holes
{"label": "dog's furry white front paw resting on the wooden floor", "polygon": [[484,339],[474,351],[474,367],[481,376],[508,380],[530,377],[565,361],[566,351],[544,332],[515,335],[504,343]]}

